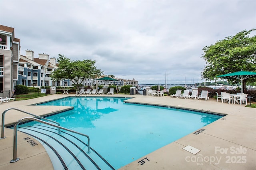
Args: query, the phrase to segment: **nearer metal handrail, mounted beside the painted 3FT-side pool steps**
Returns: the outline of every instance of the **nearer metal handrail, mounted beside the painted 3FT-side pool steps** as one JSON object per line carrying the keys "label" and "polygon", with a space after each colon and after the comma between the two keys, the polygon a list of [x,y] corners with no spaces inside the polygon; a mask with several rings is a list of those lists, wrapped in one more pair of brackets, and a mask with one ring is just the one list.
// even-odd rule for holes
{"label": "nearer metal handrail, mounted beside the painted 3FT-side pool steps", "polygon": [[61,128],[61,129],[64,129],[64,130],[67,130],[67,131],[70,131],[70,132],[80,134],[82,136],[87,137],[87,139],[88,139],[88,143],[87,143],[88,152],[87,153],[88,154],[90,153],[90,138],[89,138],[88,135],[82,134],[80,132],[76,132],[74,130],[70,130],[70,129],[67,129],[67,128],[64,128],[64,127],[60,127],[60,126],[54,125],[52,123],[48,123],[48,122],[42,121],[40,119],[36,119],[34,117],[24,117],[24,118],[18,120],[16,122],[16,124],[14,125],[14,129],[13,129],[14,130],[14,133],[13,133],[13,159],[10,161],[10,163],[17,162],[18,160],[20,160],[20,158],[17,158],[17,128],[18,128],[19,123],[21,123],[22,121],[26,121],[26,120],[37,121],[37,122],[40,122],[40,123],[44,123],[46,125],[50,125],[50,126],[53,126],[53,127],[56,127],[56,128]]}

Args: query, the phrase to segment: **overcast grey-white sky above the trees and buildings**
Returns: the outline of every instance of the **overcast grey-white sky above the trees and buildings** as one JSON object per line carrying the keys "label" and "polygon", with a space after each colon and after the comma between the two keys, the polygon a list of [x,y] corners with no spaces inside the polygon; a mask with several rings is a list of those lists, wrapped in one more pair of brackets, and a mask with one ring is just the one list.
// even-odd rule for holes
{"label": "overcast grey-white sky above the trees and buildings", "polygon": [[139,84],[203,82],[203,47],[256,28],[256,0],[1,0],[0,24],[26,49],[93,59]]}

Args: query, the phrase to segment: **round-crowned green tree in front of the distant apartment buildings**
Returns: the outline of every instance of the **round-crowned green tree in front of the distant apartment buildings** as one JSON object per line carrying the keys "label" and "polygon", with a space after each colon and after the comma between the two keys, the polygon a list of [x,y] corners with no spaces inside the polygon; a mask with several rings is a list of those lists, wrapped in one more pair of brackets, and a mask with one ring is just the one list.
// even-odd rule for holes
{"label": "round-crowned green tree in front of the distant apartment buildings", "polygon": [[52,73],[52,78],[70,79],[77,90],[85,79],[94,79],[102,74],[102,71],[94,65],[96,61],[92,59],[71,61],[65,55],[59,54],[57,61],[58,69]]}

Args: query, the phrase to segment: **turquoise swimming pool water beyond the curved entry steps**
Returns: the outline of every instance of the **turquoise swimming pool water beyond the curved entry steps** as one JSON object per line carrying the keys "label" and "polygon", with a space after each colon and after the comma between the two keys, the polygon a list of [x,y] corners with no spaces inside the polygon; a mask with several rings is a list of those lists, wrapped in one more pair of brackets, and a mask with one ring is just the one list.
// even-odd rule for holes
{"label": "turquoise swimming pool water beyond the curved entry steps", "polygon": [[[47,105],[74,106],[74,110],[53,115],[47,119],[60,123],[62,127],[89,135],[90,147],[115,169],[222,117],[168,107],[123,103],[125,100],[127,99],[67,97],[40,105],[45,105],[46,109]],[[40,123],[29,123],[19,127],[25,125],[44,126]],[[44,140],[49,140],[49,136]],[[44,142],[42,144],[44,145]],[[45,147],[48,152],[49,146]],[[80,152],[76,155],[78,154]],[[60,155],[65,155],[65,152],[61,152]],[[54,165],[54,161],[52,162]],[[57,169],[55,166],[58,165],[54,165]],[[70,163],[70,169],[72,166]]]}

